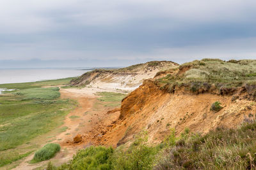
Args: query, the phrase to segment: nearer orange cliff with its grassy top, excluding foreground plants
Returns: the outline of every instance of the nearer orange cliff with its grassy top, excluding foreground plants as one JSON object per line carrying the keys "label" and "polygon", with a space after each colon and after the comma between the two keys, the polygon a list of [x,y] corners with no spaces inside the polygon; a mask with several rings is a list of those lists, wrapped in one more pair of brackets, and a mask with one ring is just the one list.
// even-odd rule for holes
{"label": "nearer orange cliff with its grassy top, excluding foreground plants", "polygon": [[255,101],[256,60],[195,60],[160,71],[125,97],[102,143],[131,142],[143,129],[150,143],[161,143],[170,128],[179,136],[186,127],[203,134],[237,127],[256,112]]}

